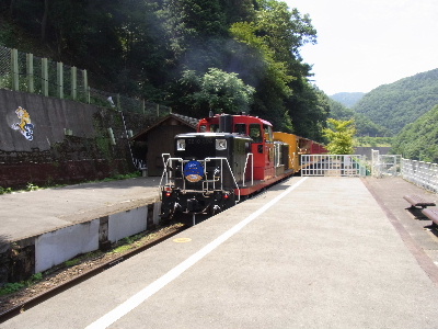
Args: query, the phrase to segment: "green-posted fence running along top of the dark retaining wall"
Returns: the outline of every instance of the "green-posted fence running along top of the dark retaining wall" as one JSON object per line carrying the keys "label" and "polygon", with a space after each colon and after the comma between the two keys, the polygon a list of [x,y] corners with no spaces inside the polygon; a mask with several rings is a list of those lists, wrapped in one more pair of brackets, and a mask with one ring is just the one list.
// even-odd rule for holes
{"label": "green-posted fence running along top of the dark retaining wall", "polygon": [[162,116],[168,106],[89,86],[87,70],[0,46],[0,88]]}

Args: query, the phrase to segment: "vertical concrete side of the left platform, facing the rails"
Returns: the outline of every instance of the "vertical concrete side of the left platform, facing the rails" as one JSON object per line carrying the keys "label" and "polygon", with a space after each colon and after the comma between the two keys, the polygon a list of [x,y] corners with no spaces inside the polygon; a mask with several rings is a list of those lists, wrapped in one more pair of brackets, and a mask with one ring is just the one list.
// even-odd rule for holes
{"label": "vertical concrete side of the left platform, facing the rails", "polygon": [[0,283],[26,280],[81,253],[105,249],[158,222],[159,207],[149,204],[2,246]]}

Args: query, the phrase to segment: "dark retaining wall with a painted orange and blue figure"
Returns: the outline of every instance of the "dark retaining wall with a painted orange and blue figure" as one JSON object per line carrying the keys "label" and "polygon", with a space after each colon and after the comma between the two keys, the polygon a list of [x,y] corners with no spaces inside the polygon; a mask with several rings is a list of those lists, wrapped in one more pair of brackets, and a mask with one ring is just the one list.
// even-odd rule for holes
{"label": "dark retaining wall with a painted orange and blue figure", "polygon": [[[0,89],[0,186],[97,180],[135,170],[127,132],[152,118]],[[157,118],[154,118],[157,120]]]}

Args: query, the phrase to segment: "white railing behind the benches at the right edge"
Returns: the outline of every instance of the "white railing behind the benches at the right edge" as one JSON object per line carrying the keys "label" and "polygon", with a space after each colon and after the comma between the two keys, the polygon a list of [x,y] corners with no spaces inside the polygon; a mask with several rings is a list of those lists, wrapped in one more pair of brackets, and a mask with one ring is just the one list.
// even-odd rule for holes
{"label": "white railing behind the benches at the right edge", "polygon": [[402,177],[425,190],[438,193],[438,164],[402,159]]}

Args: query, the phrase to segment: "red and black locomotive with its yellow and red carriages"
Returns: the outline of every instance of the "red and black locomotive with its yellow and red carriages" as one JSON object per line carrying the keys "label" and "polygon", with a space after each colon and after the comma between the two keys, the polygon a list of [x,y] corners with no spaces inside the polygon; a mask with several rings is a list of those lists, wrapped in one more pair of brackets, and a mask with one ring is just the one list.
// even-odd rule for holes
{"label": "red and black locomotive with its yellow and red carriages", "polygon": [[160,217],[215,215],[299,172],[300,155],[325,152],[324,145],[274,132],[257,116],[210,115],[196,133],[174,137],[173,156],[162,155]]}

